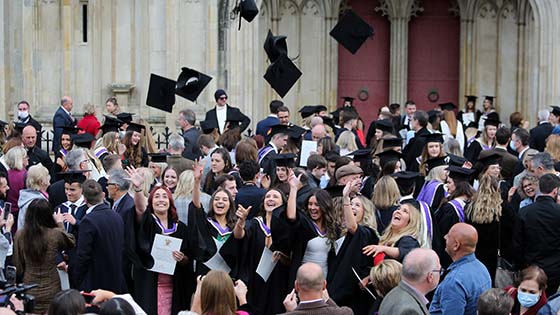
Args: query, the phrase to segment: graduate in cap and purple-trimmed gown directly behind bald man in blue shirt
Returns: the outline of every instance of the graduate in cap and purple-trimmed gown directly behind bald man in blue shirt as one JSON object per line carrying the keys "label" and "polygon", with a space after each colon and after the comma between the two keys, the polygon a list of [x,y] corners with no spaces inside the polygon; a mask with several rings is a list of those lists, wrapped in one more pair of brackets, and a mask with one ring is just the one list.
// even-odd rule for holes
{"label": "graduate in cap and purple-trimmed gown directly behind bald man in blue shirt", "polygon": [[469,179],[473,173],[472,169],[463,168],[455,165],[448,167],[446,184],[449,196],[444,199],[442,206],[435,211],[434,221],[437,225],[439,246],[433,249],[438,253],[441,265],[446,268],[451,264],[451,258],[445,252],[445,235],[455,223],[465,222],[465,205],[473,197],[475,191],[469,184]]}

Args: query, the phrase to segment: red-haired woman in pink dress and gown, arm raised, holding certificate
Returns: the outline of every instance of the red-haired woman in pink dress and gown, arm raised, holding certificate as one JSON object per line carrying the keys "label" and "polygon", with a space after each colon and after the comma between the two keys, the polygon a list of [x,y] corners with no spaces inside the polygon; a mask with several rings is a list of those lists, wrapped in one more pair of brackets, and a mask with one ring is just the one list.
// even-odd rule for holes
{"label": "red-haired woman in pink dress and gown, arm raised, holding certificate", "polygon": [[[140,261],[133,271],[135,298],[148,314],[177,314],[189,307],[189,299],[185,297],[190,297],[196,287],[192,263],[186,255],[187,227],[177,218],[167,187],[154,187],[146,200],[142,188],[144,178],[134,167],[128,167],[126,172],[135,191],[136,253]],[[172,275],[149,270],[154,266],[151,251],[156,234],[181,239],[181,249],[173,251],[177,264]]]}

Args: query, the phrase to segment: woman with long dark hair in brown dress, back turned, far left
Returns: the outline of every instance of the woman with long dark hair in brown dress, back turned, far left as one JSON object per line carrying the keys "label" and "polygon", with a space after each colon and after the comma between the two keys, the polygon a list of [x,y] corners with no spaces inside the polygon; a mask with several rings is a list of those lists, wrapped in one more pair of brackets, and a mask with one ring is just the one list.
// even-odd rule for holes
{"label": "woman with long dark hair in brown dress, back turned, far left", "polygon": [[35,199],[27,208],[23,229],[16,234],[14,264],[23,282],[38,284],[28,292],[35,297],[37,314],[46,312],[61,290],[57,255],[75,244],[74,236],[64,231],[63,221],[60,212],[53,216],[46,199]]}

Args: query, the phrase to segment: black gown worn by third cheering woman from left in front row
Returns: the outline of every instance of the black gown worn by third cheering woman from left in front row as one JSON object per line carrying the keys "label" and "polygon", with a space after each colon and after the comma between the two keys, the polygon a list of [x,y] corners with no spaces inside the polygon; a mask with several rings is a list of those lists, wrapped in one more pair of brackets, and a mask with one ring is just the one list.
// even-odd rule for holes
{"label": "black gown worn by third cheering woman from left in front row", "polygon": [[290,254],[290,226],[285,220],[279,218],[283,215],[284,209],[280,207],[274,211],[270,234],[266,230],[266,225],[263,224],[265,223],[263,217],[255,217],[247,221],[245,226],[239,278],[250,288],[247,292],[247,303],[253,308],[252,315],[284,312],[283,301],[289,293],[288,277],[286,277],[290,269],[289,265],[278,261],[266,282],[257,274],[267,234],[272,237],[272,244],[269,248],[272,252],[281,251],[287,256]]}

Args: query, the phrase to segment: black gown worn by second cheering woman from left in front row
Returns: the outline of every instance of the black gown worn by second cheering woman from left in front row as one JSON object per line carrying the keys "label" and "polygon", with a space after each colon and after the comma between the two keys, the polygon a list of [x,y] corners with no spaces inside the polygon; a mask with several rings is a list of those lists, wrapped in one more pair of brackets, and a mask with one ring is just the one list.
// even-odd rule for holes
{"label": "black gown worn by second cheering woman from left in front row", "polygon": [[208,221],[208,216],[203,208],[197,208],[191,202],[189,204],[189,242],[193,258],[196,259],[196,274],[205,275],[210,271],[204,262],[207,262],[218,251],[216,239],[225,239],[220,248],[220,255],[231,269],[229,276],[237,279],[239,273],[239,259],[242,240],[233,237],[233,231],[227,233],[219,232],[214,225]]}

